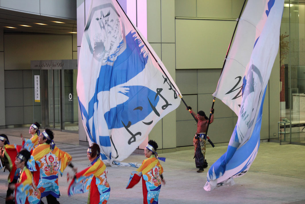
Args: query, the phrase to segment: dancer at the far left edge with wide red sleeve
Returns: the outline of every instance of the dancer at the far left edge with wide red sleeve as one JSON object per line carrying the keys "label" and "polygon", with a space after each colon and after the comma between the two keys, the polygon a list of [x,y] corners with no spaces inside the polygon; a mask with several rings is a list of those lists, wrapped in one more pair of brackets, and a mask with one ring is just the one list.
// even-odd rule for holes
{"label": "dancer at the far left edge with wide red sleeve", "polygon": [[[0,135],[0,158],[1,158],[1,163],[0,167],[2,166],[5,167],[5,170],[8,170],[9,173],[9,178],[8,182],[9,184],[16,184],[17,179],[20,176],[20,170],[17,169],[15,165],[15,160],[17,153],[21,150],[22,146],[20,145],[11,145],[9,144],[9,139],[5,134]],[[9,197],[13,191],[11,189],[8,189],[6,192],[6,197]],[[6,204],[13,204],[15,203],[14,200],[7,200],[5,201]]]}

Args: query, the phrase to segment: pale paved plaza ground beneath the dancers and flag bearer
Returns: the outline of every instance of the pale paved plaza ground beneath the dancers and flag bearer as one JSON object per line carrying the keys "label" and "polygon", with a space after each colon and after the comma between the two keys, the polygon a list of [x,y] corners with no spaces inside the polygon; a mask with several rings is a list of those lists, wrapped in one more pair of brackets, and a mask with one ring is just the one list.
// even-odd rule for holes
{"label": "pale paved plaza ground beneath the dancers and flag bearer", "polygon": [[[17,138],[20,140],[20,138]],[[16,139],[16,141],[17,141]],[[14,141],[14,138],[10,139]],[[12,143],[12,142],[11,142]],[[90,162],[87,158],[87,148],[79,145],[56,144],[61,150],[68,152],[73,157],[73,164],[77,166],[78,170],[87,168]],[[261,143],[260,149],[275,147],[279,144]],[[295,146],[291,146],[295,148]],[[217,158],[223,153],[214,153],[214,151],[225,151],[224,147],[208,148],[207,155],[210,161],[209,167]],[[285,148],[289,148],[286,146]],[[303,148],[303,147],[296,147]],[[222,150],[223,149],[223,150]],[[260,151],[259,151],[260,152]],[[304,151],[303,151],[304,152]],[[303,153],[302,153],[303,154]],[[193,157],[193,150],[177,151],[173,153],[160,154],[161,157],[167,157],[166,162],[162,162],[164,168],[164,179],[166,184],[162,185],[159,200],[160,203],[284,203],[284,204],[298,204],[305,203],[305,180],[304,178],[293,178],[288,176],[272,175],[272,172],[253,172],[251,168],[255,169],[255,162],[250,167],[249,172],[244,176],[235,179],[234,186],[223,186],[213,191],[206,192],[203,189],[206,183],[206,173],[208,168],[202,173],[197,173]],[[260,161],[260,157],[264,155],[257,155],[256,160]],[[215,158],[215,159],[214,159]],[[141,163],[145,159],[144,155],[131,154],[126,160],[129,162]],[[266,158],[263,158],[266,160]],[[292,158],[291,158],[292,159]],[[272,162],[272,160],[271,160]],[[270,165],[272,165],[270,162]],[[296,161],[298,163],[298,161]],[[305,164],[303,163],[303,169]],[[288,167],[286,167],[288,168]],[[299,168],[299,166],[298,166]],[[133,167],[107,167],[107,180],[110,184],[110,198],[109,204],[112,203],[142,203],[142,185],[141,182],[131,189],[126,189],[129,179],[129,174],[134,171]],[[72,173],[72,170],[67,167],[64,171],[63,177],[59,177],[59,189],[61,196],[58,199],[60,203],[87,203],[88,193],[81,195],[74,195],[69,197],[67,195],[68,183],[66,182],[67,172]],[[304,171],[305,173],[305,171]],[[0,203],[5,203],[5,195],[7,190],[7,176],[8,172],[0,172]],[[46,199],[42,199],[46,203]]]}

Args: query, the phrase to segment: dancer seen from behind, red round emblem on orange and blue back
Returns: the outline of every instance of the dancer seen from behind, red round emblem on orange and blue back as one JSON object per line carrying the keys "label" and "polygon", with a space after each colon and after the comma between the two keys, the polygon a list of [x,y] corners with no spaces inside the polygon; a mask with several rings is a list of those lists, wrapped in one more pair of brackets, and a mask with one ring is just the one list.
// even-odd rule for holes
{"label": "dancer seen from behind, red round emblem on orange and blue back", "polygon": [[[58,172],[63,175],[63,171],[69,165],[74,172],[77,171],[71,164],[70,154],[57,148],[53,142],[54,133],[45,129],[38,137],[38,147],[33,150],[33,157],[40,170],[38,189],[41,197],[46,197],[49,204],[59,203]],[[34,202],[38,203],[38,201]],[[43,203],[43,202],[41,202]]]}

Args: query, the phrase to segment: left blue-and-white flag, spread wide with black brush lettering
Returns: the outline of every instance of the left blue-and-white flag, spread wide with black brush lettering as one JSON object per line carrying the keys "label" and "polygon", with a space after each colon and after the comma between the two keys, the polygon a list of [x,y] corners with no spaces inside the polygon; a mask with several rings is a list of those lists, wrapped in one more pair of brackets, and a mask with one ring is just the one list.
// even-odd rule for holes
{"label": "left blue-and-white flag, spread wide with black brush lettering", "polygon": [[180,91],[115,0],[92,0],[81,43],[77,94],[89,144],[119,165],[176,109]]}

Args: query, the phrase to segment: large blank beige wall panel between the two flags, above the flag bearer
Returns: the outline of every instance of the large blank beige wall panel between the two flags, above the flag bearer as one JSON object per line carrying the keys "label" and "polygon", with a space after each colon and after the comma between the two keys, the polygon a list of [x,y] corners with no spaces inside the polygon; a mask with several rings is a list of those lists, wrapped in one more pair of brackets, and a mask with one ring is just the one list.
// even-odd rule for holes
{"label": "large blank beige wall panel between the two flags, above the flag bearer", "polygon": [[236,22],[176,19],[176,69],[221,69]]}

